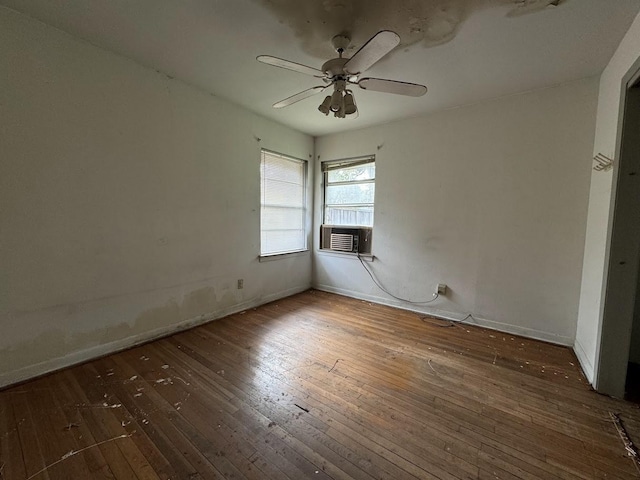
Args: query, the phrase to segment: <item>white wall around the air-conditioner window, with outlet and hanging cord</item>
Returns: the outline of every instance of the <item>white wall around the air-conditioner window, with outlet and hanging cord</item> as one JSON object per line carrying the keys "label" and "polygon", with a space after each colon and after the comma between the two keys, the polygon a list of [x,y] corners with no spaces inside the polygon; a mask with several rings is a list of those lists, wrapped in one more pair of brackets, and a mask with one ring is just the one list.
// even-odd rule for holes
{"label": "white wall around the air-conditioner window, with outlet and hanging cord", "polygon": [[397,302],[357,259],[322,252],[314,285],[573,345],[596,100],[591,78],[317,139],[320,162],[376,154],[369,265],[379,280],[413,300],[437,283],[450,294]]}

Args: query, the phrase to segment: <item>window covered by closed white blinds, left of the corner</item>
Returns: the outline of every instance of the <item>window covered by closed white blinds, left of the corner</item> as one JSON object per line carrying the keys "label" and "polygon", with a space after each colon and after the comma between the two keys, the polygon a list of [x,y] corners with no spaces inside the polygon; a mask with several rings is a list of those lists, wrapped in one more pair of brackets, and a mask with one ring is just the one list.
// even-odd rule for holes
{"label": "window covered by closed white blinds, left of the corner", "polygon": [[261,151],[260,255],[307,249],[306,162]]}

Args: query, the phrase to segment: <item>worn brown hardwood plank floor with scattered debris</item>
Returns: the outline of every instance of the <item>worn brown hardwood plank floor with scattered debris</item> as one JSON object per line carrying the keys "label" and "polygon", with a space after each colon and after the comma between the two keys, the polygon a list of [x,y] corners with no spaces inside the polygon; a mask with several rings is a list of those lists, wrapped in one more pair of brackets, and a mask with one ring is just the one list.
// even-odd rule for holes
{"label": "worn brown hardwood plank floor with scattered debris", "polygon": [[563,347],[308,291],[0,392],[0,478],[627,479]]}

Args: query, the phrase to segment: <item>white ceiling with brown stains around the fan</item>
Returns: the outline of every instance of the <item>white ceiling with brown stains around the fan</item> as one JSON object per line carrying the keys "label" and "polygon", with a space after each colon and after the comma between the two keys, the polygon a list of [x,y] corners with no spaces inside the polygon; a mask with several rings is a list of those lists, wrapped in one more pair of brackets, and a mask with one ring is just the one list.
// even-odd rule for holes
{"label": "white ceiling with brown stains around the fan", "polygon": [[[388,122],[596,75],[640,10],[639,0],[0,0],[311,135]],[[524,4],[524,6],[517,6]],[[325,117],[323,95],[271,105],[317,79],[264,65],[267,54],[319,68],[330,39],[351,54],[382,29],[401,46],[367,76],[422,83],[420,98],[356,89],[358,118]]]}

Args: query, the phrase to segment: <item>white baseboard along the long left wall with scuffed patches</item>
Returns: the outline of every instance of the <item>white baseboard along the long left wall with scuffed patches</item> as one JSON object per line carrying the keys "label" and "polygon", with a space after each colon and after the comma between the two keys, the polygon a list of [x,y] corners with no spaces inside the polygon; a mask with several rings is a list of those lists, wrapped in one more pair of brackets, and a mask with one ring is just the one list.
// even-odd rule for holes
{"label": "white baseboard along the long left wall with scuffed patches", "polygon": [[42,375],[61,370],[63,368],[71,367],[73,365],[78,365],[80,363],[103,357],[105,355],[120,352],[122,350],[126,350],[137,345],[142,345],[143,343],[148,343],[162,337],[167,337],[169,335],[188,330],[198,325],[203,325],[213,320],[217,320],[234,313],[242,312],[243,310],[247,310],[248,308],[255,308],[260,305],[264,305],[265,303],[273,302],[285,297],[290,297],[291,295],[304,292],[309,288],[311,288],[310,285],[290,288],[288,290],[272,293],[258,299],[239,303],[232,307],[224,308],[216,312],[207,313],[205,315],[198,315],[197,317],[185,320],[174,325],[150,330],[139,335],[123,338],[114,342],[105,343],[103,345],[96,345],[95,347],[73,352],[62,357],[52,358],[44,362],[36,363],[34,365],[28,365],[11,372],[4,372],[0,374],[0,388],[5,388],[16,383],[24,382],[25,380],[40,377]]}

